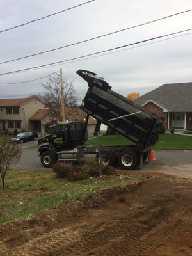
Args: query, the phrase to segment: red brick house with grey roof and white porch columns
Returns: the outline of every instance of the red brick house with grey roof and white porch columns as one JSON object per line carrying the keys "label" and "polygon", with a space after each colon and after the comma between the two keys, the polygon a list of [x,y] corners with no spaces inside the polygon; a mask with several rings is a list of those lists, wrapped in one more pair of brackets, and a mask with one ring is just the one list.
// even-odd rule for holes
{"label": "red brick house with grey roof and white porch columns", "polygon": [[164,127],[192,129],[192,83],[163,84],[134,100],[165,118]]}

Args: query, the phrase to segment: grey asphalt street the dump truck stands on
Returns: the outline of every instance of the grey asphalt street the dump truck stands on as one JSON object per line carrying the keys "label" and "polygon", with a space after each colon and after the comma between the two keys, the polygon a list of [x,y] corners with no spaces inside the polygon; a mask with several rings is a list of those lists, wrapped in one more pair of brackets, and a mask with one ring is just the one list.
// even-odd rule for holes
{"label": "grey asphalt street the dump truck stands on", "polygon": [[[12,169],[51,170],[51,168],[42,166],[40,162],[40,157],[37,154],[37,141],[23,143],[22,148],[20,162],[12,166]],[[145,163],[141,170],[134,172],[160,172],[192,179],[192,150],[155,150],[154,154],[156,161]]]}

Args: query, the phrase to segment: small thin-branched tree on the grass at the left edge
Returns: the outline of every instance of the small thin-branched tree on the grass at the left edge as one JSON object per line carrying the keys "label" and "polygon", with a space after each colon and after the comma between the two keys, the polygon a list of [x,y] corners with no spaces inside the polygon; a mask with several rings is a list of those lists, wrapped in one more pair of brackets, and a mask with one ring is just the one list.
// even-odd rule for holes
{"label": "small thin-branched tree on the grass at the left edge", "polygon": [[5,136],[0,144],[0,173],[3,189],[5,188],[5,177],[8,168],[20,160],[22,149],[19,144],[11,143],[10,138]]}

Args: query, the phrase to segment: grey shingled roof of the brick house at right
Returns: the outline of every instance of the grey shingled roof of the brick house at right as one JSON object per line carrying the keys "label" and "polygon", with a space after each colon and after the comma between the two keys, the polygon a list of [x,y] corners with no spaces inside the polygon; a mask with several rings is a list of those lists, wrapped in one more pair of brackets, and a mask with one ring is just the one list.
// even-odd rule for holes
{"label": "grey shingled roof of the brick house at right", "polygon": [[141,105],[152,101],[168,111],[192,111],[191,97],[192,82],[175,83],[163,84],[134,101]]}

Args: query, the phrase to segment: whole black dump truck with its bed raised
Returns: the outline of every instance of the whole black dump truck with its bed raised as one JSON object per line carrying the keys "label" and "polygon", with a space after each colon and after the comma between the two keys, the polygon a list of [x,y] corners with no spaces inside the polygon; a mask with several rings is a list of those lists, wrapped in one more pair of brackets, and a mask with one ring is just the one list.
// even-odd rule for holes
{"label": "whole black dump truck with its bed raised", "polygon": [[[78,70],[77,74],[88,83],[88,91],[81,108],[86,112],[85,122],[65,122],[52,125],[50,134],[38,140],[38,156],[45,167],[56,161],[79,161],[86,154],[95,154],[103,164],[118,164],[124,170],[142,168],[148,152],[157,143],[163,118],[139,104],[113,92],[111,86],[97,74]],[[134,145],[102,146],[86,145],[88,118],[97,120],[95,135],[100,125],[131,140]]]}

